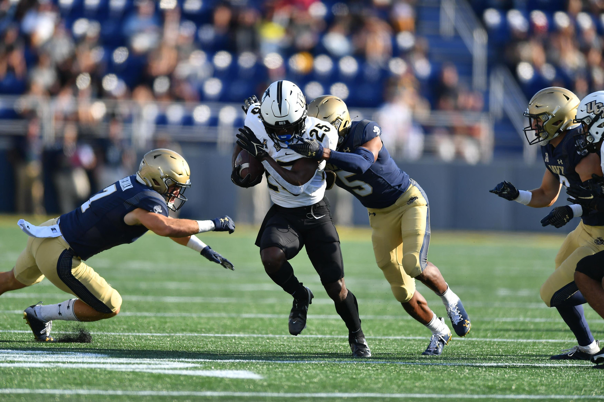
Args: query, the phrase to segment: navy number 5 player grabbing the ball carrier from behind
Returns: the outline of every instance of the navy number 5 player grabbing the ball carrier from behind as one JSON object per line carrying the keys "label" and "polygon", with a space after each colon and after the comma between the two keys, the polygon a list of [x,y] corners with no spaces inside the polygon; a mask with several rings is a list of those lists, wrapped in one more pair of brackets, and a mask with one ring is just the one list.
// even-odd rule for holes
{"label": "navy number 5 player grabbing the ball carrier from behind", "polygon": [[426,193],[394,163],[382,144],[379,125],[369,120],[351,122],[342,99],[320,96],[310,102],[308,115],[338,129],[337,149],[306,139],[289,147],[304,156],[326,160],[335,174],[335,184],[367,207],[377,266],[406,312],[432,331],[423,354],[442,353],[451,331],[416,291],[415,279],[442,298],[455,333],[465,336],[471,324],[460,298],[451,291],[439,269],[428,262],[430,213]]}

